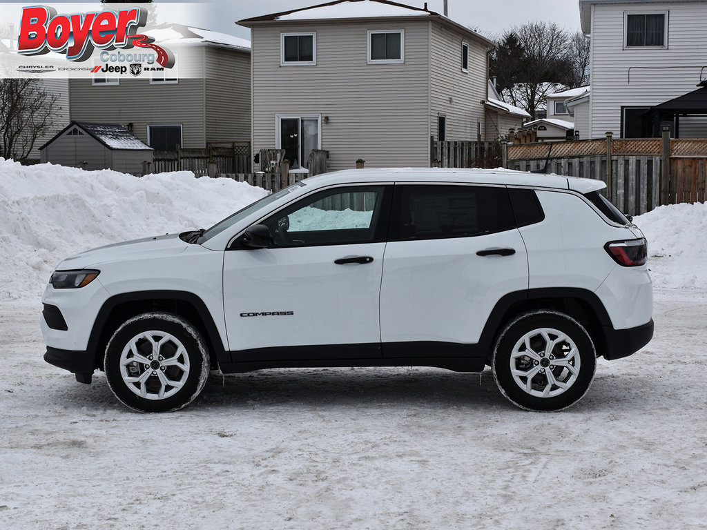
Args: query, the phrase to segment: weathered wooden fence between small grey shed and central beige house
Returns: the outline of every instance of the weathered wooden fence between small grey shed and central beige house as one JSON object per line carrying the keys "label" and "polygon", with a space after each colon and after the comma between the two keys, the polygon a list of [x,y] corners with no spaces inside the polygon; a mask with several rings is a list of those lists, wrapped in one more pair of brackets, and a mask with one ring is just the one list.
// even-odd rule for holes
{"label": "weathered wooden fence between small grey shed and central beige house", "polygon": [[250,142],[207,144],[206,149],[155,151],[150,169],[153,173],[191,171],[197,177],[209,174],[209,163],[215,164],[217,173],[250,173]]}

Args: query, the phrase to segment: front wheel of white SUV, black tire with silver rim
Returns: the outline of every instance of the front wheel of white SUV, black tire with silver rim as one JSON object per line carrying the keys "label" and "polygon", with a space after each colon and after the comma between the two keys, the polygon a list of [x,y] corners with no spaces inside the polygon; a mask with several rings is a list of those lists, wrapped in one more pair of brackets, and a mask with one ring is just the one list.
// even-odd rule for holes
{"label": "front wheel of white SUV, black tire with silver rim", "polygon": [[119,326],[105,349],[104,367],[122,404],[140,412],[168,412],[196,399],[210,360],[192,324],[175,314],[151,312]]}

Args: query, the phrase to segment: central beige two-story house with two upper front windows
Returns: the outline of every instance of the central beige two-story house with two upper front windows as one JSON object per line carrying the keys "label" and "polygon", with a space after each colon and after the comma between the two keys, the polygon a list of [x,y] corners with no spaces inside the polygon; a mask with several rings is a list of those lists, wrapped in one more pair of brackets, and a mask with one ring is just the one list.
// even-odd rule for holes
{"label": "central beige two-story house with two upper front windows", "polygon": [[282,148],[328,170],[429,166],[431,138],[486,131],[487,51],[493,44],[426,8],[341,0],[249,18],[252,146]]}

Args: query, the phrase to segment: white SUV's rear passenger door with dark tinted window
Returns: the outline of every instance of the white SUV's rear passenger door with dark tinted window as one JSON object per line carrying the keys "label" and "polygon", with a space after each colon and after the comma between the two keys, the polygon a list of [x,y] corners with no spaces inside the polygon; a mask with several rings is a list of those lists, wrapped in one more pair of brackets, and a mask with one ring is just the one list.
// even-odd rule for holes
{"label": "white SUV's rear passenger door with dark tinted window", "polygon": [[385,357],[411,356],[411,343],[431,343],[426,357],[477,343],[496,302],[528,286],[505,187],[396,184],[384,261]]}

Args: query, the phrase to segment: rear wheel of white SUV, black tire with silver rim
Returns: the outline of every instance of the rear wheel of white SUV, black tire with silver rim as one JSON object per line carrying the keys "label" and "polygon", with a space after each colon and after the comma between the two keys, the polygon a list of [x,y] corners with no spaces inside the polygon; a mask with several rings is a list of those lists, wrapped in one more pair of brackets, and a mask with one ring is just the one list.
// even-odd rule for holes
{"label": "rear wheel of white SUV, black tire with silver rim", "polygon": [[498,389],[528,411],[559,411],[575,404],[587,393],[596,367],[588,331],[551,310],[525,313],[510,322],[491,360]]}

